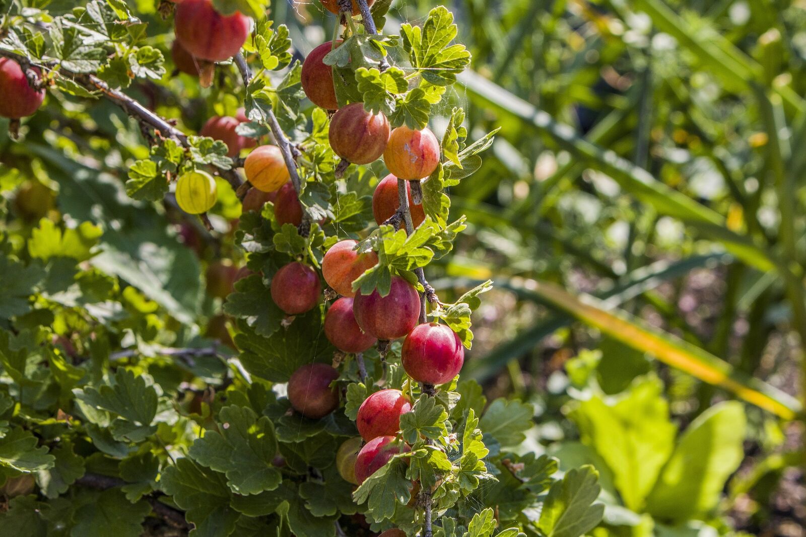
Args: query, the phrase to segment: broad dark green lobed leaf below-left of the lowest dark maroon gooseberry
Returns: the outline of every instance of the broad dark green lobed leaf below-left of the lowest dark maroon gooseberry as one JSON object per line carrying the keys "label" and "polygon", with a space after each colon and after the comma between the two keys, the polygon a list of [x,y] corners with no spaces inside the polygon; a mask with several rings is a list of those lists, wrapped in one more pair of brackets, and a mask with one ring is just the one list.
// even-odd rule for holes
{"label": "broad dark green lobed leaf below-left of the lowest dark maroon gooseberry", "polygon": [[220,432],[208,431],[190,447],[199,464],[226,474],[236,494],[258,494],[280,485],[280,471],[272,465],[277,452],[274,424],[248,407],[223,407]]}

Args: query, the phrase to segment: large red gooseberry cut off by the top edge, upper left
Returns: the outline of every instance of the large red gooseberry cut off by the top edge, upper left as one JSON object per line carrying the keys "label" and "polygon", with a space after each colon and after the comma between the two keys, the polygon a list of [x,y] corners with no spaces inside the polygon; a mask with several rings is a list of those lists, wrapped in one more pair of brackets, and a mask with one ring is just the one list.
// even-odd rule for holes
{"label": "large red gooseberry cut off by the top edge, upper left", "polygon": [[210,0],[184,0],[173,19],[177,40],[192,55],[210,62],[238,54],[249,35],[249,18],[218,13]]}

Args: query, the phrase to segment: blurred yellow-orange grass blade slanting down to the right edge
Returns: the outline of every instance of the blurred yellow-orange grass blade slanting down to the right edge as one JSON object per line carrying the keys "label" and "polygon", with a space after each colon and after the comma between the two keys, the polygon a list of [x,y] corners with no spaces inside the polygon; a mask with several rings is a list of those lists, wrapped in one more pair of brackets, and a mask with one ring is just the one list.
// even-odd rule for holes
{"label": "blurred yellow-orange grass blade slanting down to the right edge", "polygon": [[727,362],[704,349],[650,327],[626,312],[605,311],[600,299],[591,295],[571,295],[553,283],[534,281],[533,285],[533,291],[553,308],[567,312],[609,337],[649,353],[669,366],[732,391],[746,402],[783,419],[794,419],[800,412],[800,403],[782,391],[734,371]]}

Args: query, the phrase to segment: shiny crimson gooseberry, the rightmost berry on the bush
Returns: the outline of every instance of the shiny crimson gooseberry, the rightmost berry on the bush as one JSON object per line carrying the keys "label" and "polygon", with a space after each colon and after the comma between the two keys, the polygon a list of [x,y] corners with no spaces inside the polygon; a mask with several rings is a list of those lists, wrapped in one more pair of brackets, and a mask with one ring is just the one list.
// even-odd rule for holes
{"label": "shiny crimson gooseberry, the rightmost berry on the bush", "polygon": [[403,369],[417,382],[444,384],[459,374],[464,348],[459,336],[445,324],[418,324],[401,349]]}

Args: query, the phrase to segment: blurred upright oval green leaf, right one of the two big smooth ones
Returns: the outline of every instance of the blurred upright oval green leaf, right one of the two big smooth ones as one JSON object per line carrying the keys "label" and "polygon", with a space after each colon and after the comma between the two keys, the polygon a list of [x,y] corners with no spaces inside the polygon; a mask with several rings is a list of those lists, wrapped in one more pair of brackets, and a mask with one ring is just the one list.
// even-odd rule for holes
{"label": "blurred upright oval green leaf, right one of the two big smooth ones", "polygon": [[700,414],[686,432],[646,500],[653,516],[700,518],[719,502],[725,481],[744,458],[745,409],[726,401]]}

